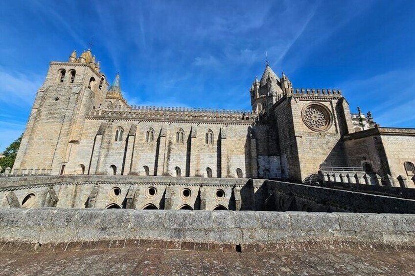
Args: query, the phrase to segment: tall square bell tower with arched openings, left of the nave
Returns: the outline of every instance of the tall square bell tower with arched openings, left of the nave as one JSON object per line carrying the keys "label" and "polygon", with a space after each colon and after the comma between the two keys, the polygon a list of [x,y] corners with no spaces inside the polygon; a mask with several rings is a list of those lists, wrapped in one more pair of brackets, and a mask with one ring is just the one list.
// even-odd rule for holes
{"label": "tall square bell tower with arched openings, left of the nave", "polygon": [[36,94],[13,170],[62,174],[72,144],[79,143],[85,116],[105,103],[108,83],[91,49],[68,62],[50,62]]}

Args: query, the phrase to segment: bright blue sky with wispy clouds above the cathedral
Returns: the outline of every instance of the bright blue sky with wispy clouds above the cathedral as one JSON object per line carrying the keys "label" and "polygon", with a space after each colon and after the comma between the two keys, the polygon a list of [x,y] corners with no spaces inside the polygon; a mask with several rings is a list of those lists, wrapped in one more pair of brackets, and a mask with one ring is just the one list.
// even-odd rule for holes
{"label": "bright blue sky with wispy clouds above the cathedral", "polygon": [[381,126],[415,127],[415,1],[3,1],[0,150],[24,130],[49,61],[88,47],[131,105],[250,109],[265,67],[342,89]]}

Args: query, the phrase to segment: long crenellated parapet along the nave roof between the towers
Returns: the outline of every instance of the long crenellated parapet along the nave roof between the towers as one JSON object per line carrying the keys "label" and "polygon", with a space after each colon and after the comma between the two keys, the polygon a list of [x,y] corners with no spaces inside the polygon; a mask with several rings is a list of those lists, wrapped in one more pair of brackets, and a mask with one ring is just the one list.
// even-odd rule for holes
{"label": "long crenellated parapet along the nave roof between the towers", "polygon": [[93,109],[89,118],[130,118],[171,121],[254,122],[258,114],[248,110],[171,106],[113,106]]}

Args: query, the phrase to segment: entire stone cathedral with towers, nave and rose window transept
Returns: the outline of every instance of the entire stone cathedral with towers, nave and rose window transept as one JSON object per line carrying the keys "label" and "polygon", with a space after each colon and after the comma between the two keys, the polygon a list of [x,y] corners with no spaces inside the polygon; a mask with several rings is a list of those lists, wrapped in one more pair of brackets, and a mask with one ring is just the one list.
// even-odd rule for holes
{"label": "entire stone cathedral with towers, nave and rose window transept", "polygon": [[109,85],[90,49],[73,51],[50,63],[9,173],[300,183],[327,168],[360,168],[414,186],[415,129],[351,113],[339,89],[293,88],[268,63],[248,96],[250,111],[129,106],[119,75]]}

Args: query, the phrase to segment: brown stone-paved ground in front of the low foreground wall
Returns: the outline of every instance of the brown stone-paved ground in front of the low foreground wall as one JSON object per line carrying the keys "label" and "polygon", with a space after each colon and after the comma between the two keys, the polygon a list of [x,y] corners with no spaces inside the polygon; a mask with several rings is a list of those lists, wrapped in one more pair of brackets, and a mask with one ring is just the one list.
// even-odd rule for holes
{"label": "brown stone-paved ground in front of the low foreground wall", "polygon": [[5,275],[415,275],[415,254],[356,250],[212,253],[110,249],[0,253]]}

